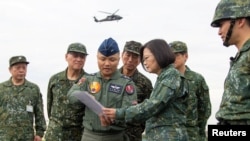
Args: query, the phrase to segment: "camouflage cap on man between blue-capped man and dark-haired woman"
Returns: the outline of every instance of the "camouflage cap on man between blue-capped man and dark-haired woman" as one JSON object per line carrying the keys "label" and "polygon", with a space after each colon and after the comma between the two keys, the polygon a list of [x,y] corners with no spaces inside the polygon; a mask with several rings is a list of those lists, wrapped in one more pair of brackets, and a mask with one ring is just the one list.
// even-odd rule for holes
{"label": "camouflage cap on man between blue-capped man and dark-haired woman", "polygon": [[125,43],[124,51],[132,52],[140,55],[140,48],[142,44],[136,41],[128,41]]}

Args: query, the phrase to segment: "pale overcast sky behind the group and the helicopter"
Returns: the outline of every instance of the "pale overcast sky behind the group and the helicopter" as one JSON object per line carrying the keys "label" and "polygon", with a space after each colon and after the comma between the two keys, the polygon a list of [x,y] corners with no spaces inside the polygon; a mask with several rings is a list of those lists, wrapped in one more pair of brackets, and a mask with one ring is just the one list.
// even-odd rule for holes
{"label": "pale overcast sky behind the group and the helicopter", "polygon": [[[226,48],[218,29],[210,23],[219,0],[1,0],[0,1],[0,81],[9,79],[9,58],[25,55],[30,61],[27,79],[40,86],[46,109],[46,92],[51,75],[66,69],[65,53],[73,42],[83,43],[89,53],[87,72],[98,71],[96,52],[101,42],[112,37],[120,50],[126,41],[141,43],[155,38],[167,42],[181,40],[189,49],[187,65],[201,73],[209,86],[212,115],[216,124],[229,69],[229,57],[236,48]],[[105,18],[116,13],[120,21],[95,23],[93,16]],[[121,64],[119,65],[121,66]],[[153,84],[156,75],[149,76]],[[46,111],[45,111],[46,112]]]}

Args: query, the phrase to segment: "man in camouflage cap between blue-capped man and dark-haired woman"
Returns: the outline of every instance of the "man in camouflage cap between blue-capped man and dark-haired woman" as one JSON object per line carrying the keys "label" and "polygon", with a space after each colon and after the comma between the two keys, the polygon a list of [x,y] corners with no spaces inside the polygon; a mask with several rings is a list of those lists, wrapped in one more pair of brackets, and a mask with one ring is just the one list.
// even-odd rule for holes
{"label": "man in camouflage cap between blue-capped man and dark-haired woman", "polygon": [[[136,41],[126,42],[122,52],[123,66],[119,69],[122,74],[130,77],[135,83],[138,103],[149,98],[153,89],[151,81],[137,69],[140,64],[139,50],[141,46],[142,44]],[[145,122],[128,124],[127,126],[126,134],[129,136],[130,141],[142,141]]]}

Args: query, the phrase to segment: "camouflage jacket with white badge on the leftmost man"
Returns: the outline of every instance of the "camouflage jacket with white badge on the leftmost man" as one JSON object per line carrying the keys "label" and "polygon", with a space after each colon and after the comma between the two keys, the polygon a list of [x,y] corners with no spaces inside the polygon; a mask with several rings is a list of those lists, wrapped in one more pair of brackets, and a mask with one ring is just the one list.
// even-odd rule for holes
{"label": "camouflage jacket with white badge on the leftmost man", "polygon": [[43,99],[36,84],[25,80],[23,85],[14,86],[11,78],[0,84],[0,136],[9,128],[33,132],[35,129],[36,135],[43,136],[46,129]]}

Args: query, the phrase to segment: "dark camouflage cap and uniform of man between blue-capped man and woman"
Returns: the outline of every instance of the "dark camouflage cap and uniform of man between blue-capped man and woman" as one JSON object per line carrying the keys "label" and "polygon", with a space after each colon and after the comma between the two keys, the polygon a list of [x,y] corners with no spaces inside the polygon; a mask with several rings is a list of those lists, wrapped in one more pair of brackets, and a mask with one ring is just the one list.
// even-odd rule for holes
{"label": "dark camouflage cap and uniform of man between blue-capped man and woman", "polygon": [[[137,55],[140,55],[139,49],[141,47],[141,43],[136,41],[128,41],[124,46],[124,51],[131,52]],[[119,69],[122,72],[123,66]],[[137,92],[137,102],[141,103],[145,99],[150,97],[150,93],[153,90],[151,81],[142,73],[135,70],[132,76],[129,76],[136,85],[136,92]],[[127,124],[126,134],[128,135],[130,141],[142,141],[142,133],[145,129],[145,122],[144,123],[133,123]]]}

